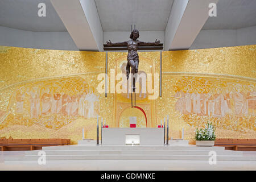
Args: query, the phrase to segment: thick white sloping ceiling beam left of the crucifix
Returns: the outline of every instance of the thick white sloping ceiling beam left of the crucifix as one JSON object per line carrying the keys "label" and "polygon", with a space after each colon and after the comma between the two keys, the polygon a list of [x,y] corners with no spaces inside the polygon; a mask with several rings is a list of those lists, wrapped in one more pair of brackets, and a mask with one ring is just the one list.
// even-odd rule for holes
{"label": "thick white sloping ceiling beam left of the crucifix", "polygon": [[91,0],[51,0],[80,51],[103,51],[103,30]]}

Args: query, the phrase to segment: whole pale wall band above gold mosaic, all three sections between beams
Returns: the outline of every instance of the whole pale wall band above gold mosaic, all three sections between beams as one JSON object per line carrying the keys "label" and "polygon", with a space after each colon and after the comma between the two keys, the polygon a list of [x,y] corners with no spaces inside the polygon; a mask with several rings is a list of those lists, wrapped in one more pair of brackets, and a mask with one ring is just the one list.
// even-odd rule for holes
{"label": "whole pale wall band above gold mosaic, all three sections between beams", "polygon": [[[139,40],[164,43],[164,31],[140,31]],[[246,46],[256,44],[256,26],[238,30],[201,30],[189,49]],[[130,31],[106,31],[103,42],[129,40]],[[78,51],[68,32],[31,32],[0,26],[0,46]],[[165,47],[165,45],[163,45]]]}

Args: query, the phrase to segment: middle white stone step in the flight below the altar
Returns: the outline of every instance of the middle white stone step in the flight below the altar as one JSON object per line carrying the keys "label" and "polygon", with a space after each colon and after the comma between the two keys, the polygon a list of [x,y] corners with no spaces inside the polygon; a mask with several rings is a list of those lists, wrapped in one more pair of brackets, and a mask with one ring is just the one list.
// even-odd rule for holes
{"label": "middle white stone step in the flight below the altar", "polygon": [[[36,151],[26,151],[26,155],[38,155]],[[145,154],[145,155],[208,155],[208,150],[45,150],[46,155],[104,155],[104,154]],[[242,151],[217,150],[217,155],[242,155]]]}

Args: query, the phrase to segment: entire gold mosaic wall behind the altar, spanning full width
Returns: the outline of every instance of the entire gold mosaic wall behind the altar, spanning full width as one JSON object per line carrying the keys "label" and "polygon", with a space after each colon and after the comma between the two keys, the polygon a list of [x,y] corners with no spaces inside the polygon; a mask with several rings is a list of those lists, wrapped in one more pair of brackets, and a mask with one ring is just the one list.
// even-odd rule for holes
{"label": "entire gold mosaic wall behind the altar, spanning full width", "polygon": [[[156,127],[167,114],[170,137],[193,140],[207,121],[218,138],[256,138],[256,46],[162,52],[162,97],[98,93],[105,52],[56,51],[0,46],[0,137],[96,138],[96,115],[110,127]],[[108,76],[122,73],[127,53],[108,53]],[[159,92],[160,52],[139,52],[139,71],[153,75]],[[115,80],[117,85],[120,80]],[[108,91],[110,92],[110,82]],[[138,85],[139,86],[139,85]],[[100,119],[101,121],[101,119]]]}

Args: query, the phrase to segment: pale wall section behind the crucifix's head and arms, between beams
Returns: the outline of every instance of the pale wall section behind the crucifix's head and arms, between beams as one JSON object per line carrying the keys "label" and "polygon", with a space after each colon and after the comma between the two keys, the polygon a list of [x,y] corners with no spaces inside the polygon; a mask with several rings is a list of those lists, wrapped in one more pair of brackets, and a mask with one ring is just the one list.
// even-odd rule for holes
{"label": "pale wall section behind the crucifix's head and arms, between beams", "polygon": [[[125,42],[130,39],[130,34],[130,31],[105,31],[103,32],[103,42],[104,44],[109,40],[111,40],[111,42]],[[164,31],[139,31],[139,40],[155,42],[155,39],[164,43]]]}

